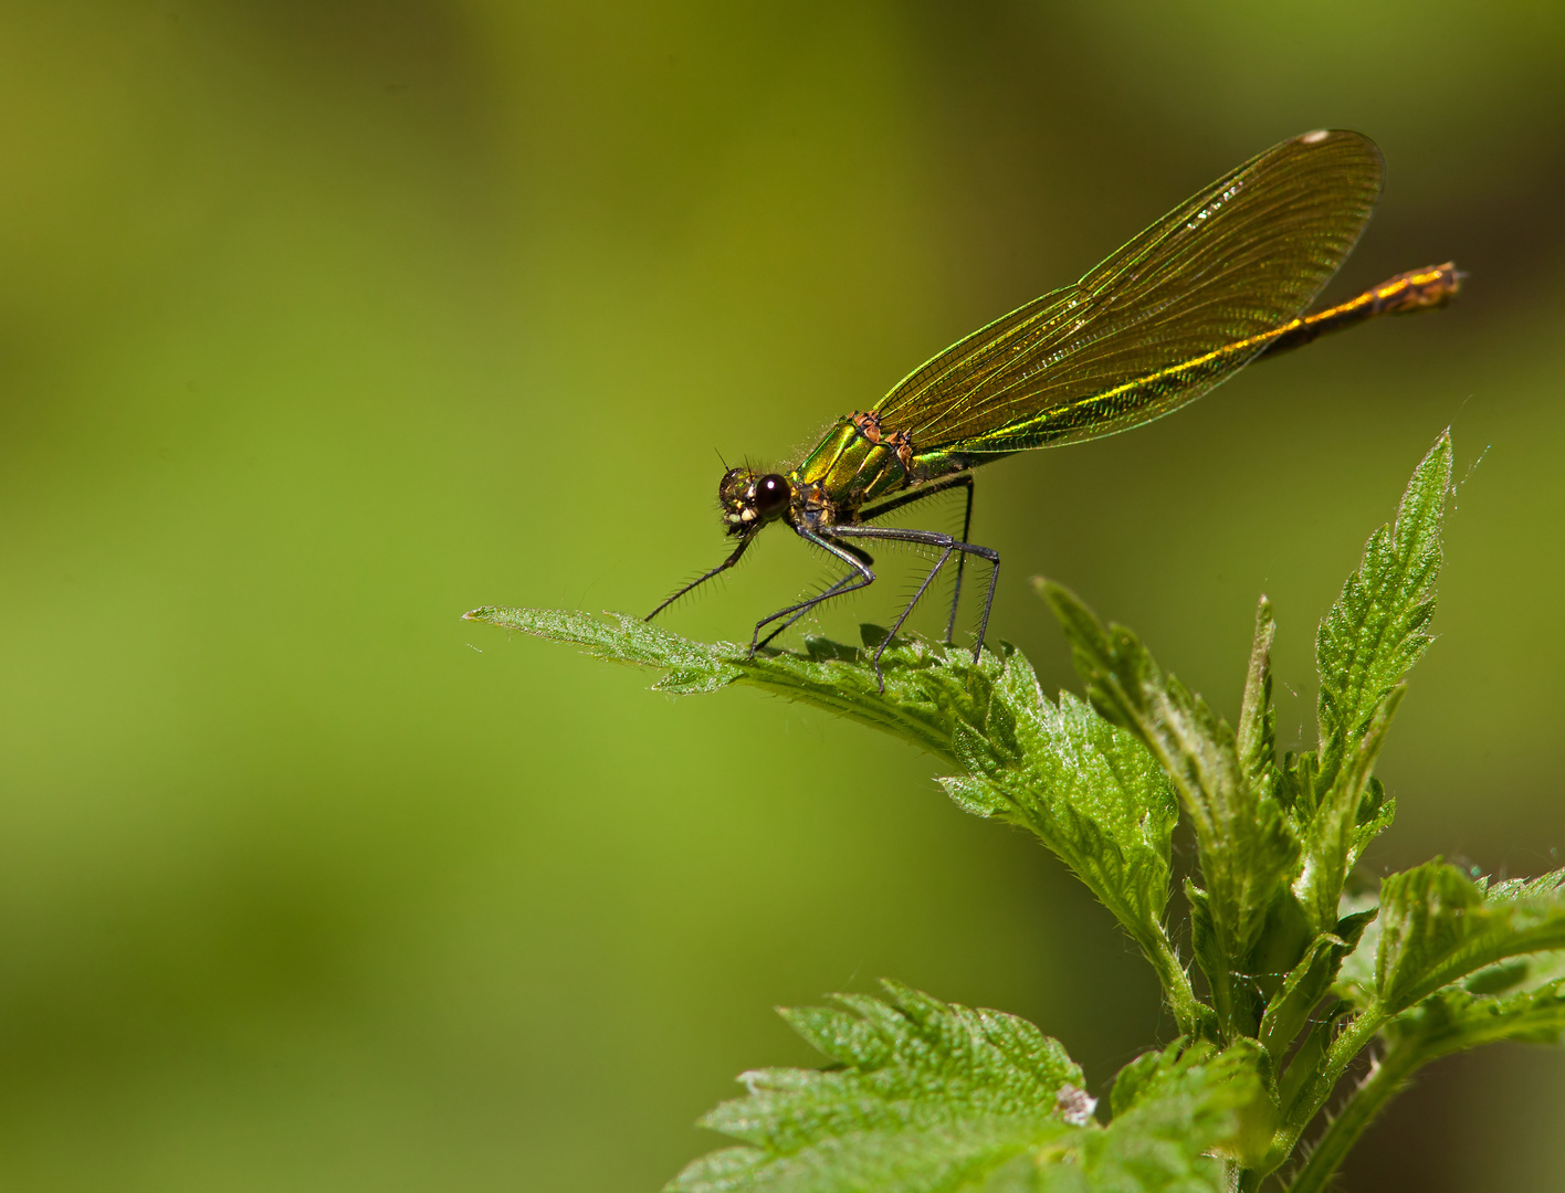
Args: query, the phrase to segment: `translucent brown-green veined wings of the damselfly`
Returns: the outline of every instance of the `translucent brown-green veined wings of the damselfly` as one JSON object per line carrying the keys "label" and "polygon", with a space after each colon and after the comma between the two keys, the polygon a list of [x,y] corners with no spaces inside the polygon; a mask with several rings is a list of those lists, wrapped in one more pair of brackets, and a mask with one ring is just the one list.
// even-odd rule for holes
{"label": "translucent brown-green veined wings of the damselfly", "polygon": [[1283,335],[1363,231],[1380,152],[1358,133],[1274,145],[1077,285],[919,366],[878,407],[914,452],[1078,442],[1200,397]]}

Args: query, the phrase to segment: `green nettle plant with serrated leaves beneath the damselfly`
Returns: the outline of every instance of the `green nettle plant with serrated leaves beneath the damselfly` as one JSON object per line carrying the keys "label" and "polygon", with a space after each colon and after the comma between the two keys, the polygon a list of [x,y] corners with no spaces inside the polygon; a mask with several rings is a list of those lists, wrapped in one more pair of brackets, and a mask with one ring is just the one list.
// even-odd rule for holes
{"label": "green nettle plant with serrated leaves beneath the damselfly", "polygon": [[[1238,725],[1166,674],[1135,633],[1070,591],[1038,589],[1070,639],[1088,700],[1050,702],[1009,647],[808,639],[748,658],[610,614],[466,616],[662,668],[659,691],[753,683],[897,733],[958,774],[964,810],[1022,826],[1119,919],[1163,983],[1178,1038],[1114,1079],[1108,1113],[1033,1024],[894,982],[786,1012],[829,1065],[743,1074],[703,1123],[737,1141],[684,1170],[682,1193],[1258,1190],[1315,1193],[1407,1079],[1499,1040],[1565,1034],[1565,871],[1488,882],[1440,858],[1347,893],[1391,824],[1374,777],[1429,644],[1451,439],[1419,463],[1316,633],[1319,744],[1279,757],[1265,599]],[[1169,930],[1171,837],[1185,816],[1193,982]],[[1366,1076],[1360,1057],[1369,1055]],[[1330,1112],[1324,1115],[1322,1112]],[[1301,1141],[1316,1120],[1302,1162]]]}

